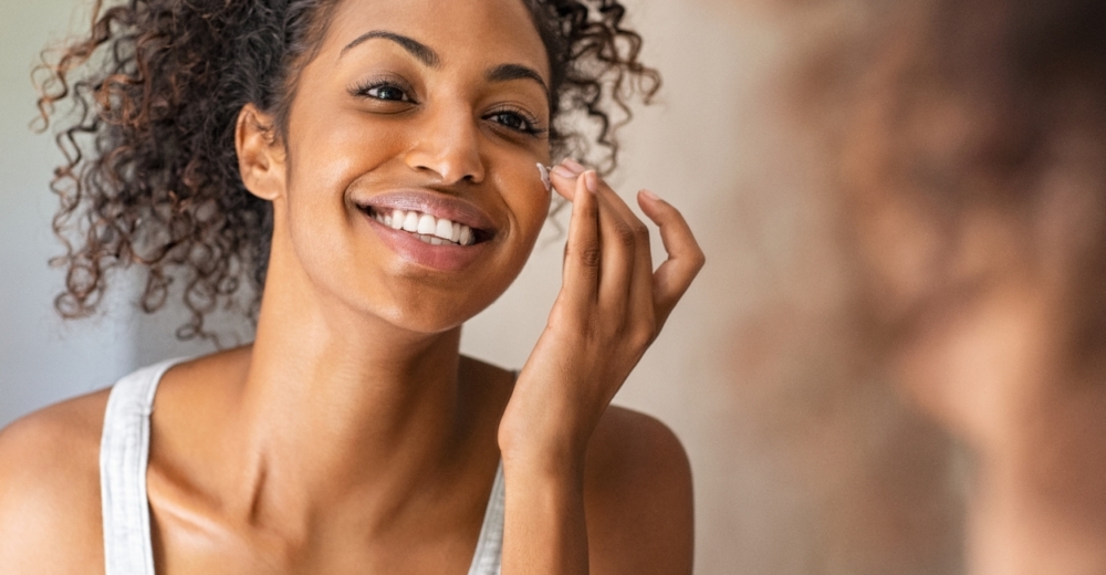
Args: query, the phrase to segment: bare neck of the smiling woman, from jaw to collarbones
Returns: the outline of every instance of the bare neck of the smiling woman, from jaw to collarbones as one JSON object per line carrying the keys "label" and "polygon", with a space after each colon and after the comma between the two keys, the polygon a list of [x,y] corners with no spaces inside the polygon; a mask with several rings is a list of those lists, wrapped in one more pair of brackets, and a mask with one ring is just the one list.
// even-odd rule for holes
{"label": "bare neck of the smiling woman, from jaw to collarbones", "polygon": [[237,410],[250,460],[236,484],[262,508],[310,512],[367,493],[388,508],[450,477],[472,435],[460,327],[416,334],[269,281]]}

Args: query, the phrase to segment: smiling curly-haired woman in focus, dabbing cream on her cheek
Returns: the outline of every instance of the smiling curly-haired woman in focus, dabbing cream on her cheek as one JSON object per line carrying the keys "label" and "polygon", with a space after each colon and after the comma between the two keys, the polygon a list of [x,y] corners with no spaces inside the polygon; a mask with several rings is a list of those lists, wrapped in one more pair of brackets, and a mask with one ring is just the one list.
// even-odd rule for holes
{"label": "smiling curly-haired woman in focus, dabbing cream on her cheek", "polygon": [[100,8],[42,102],[97,67],[64,133],[97,144],[60,171],[58,224],[86,231],[60,306],[87,312],[134,261],[156,309],[179,264],[200,333],[252,272],[257,337],[4,430],[6,573],[690,572],[679,442],[607,409],[703,261],[672,207],[638,197],[670,255],[654,272],[629,208],[559,165],[546,330],[518,375],[458,351],[549,212],[559,119],[609,144],[606,98],[653,79],[620,4]]}

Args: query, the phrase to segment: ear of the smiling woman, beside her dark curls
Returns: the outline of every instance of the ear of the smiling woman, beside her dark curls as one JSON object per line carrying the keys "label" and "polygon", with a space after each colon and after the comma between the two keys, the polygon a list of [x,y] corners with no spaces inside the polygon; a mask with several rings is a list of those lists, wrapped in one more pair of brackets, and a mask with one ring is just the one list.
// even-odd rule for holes
{"label": "ear of the smiling woman, beside her dark curls", "polygon": [[242,184],[250,194],[273,201],[285,190],[284,146],[278,142],[273,118],[253,104],[242,106],[234,127],[234,148]]}

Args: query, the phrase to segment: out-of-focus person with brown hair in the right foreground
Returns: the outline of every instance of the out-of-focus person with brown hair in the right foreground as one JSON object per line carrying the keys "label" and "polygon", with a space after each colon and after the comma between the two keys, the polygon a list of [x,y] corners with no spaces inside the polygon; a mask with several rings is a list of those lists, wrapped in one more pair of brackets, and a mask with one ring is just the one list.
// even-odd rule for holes
{"label": "out-of-focus person with brown hair in the right foreground", "polygon": [[873,10],[834,93],[875,345],[975,454],[971,573],[1106,573],[1106,7]]}

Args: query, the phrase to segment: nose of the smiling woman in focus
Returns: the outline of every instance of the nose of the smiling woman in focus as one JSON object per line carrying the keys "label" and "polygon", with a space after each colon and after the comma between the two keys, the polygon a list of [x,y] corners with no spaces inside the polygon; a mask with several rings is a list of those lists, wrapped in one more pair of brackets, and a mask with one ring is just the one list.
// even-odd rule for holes
{"label": "nose of the smiling woman in focus", "polygon": [[419,126],[407,165],[416,171],[432,172],[442,184],[479,184],[484,178],[480,155],[479,126],[470,111],[439,111]]}

